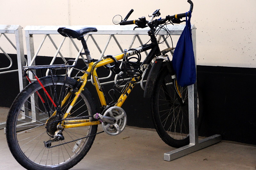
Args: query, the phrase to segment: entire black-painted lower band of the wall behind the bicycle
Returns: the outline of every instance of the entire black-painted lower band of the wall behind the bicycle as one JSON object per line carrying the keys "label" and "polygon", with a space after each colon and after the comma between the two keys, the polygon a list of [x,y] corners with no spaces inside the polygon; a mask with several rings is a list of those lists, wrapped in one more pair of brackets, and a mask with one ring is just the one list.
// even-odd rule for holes
{"label": "entire black-painted lower band of the wall behind the bicycle", "polygon": [[[16,55],[10,54],[17,69]],[[6,58],[0,53],[0,58]],[[52,57],[38,57],[36,65],[47,65]],[[0,68],[9,66],[7,59],[0,60]],[[57,58],[56,64],[63,63]],[[84,62],[78,62],[78,68]],[[100,68],[103,76],[108,71]],[[220,134],[223,140],[256,144],[256,68],[197,66],[198,88],[203,92],[204,114],[200,136]],[[10,107],[19,93],[18,72],[0,74],[0,107]],[[91,83],[87,88],[95,100],[95,90]],[[105,85],[108,92],[113,85]],[[128,125],[142,128],[154,128],[151,116],[150,98],[143,98],[140,85],[135,86],[130,97],[123,105],[128,117]],[[110,100],[110,99],[109,99]]]}

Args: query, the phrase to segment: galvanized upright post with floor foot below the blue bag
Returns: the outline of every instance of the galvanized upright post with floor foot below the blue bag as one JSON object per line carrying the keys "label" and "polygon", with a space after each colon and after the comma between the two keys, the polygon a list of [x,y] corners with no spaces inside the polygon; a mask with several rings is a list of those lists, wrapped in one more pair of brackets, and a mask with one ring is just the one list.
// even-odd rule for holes
{"label": "galvanized upright post with floor foot below the blue bag", "polygon": [[[183,29],[180,31],[182,32]],[[192,29],[192,42],[193,42],[193,49],[194,49],[194,55],[195,55],[195,63],[196,63],[196,27],[194,25],[191,25],[191,29]],[[188,86],[188,119],[189,119],[189,140],[190,140],[189,142],[190,143],[181,148],[164,153],[164,160],[171,161],[221,141],[221,135],[212,135],[200,141],[198,140],[196,83]]]}

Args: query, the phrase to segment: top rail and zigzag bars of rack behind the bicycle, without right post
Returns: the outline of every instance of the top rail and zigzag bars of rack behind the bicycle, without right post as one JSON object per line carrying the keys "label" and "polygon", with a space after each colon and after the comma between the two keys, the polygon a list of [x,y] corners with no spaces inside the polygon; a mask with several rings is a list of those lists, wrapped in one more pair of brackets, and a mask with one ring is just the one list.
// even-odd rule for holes
{"label": "top rail and zigzag bars of rack behind the bicycle, without right post", "polygon": [[[32,66],[34,65],[34,62],[36,60],[36,57],[39,53],[39,51],[41,50],[45,39],[48,37],[51,41],[51,43],[53,44],[54,48],[56,49],[55,55],[52,58],[52,61],[50,64],[53,64],[53,62],[55,61],[55,59],[57,58],[57,55],[59,54],[60,57],[62,58],[63,62],[66,62],[66,59],[63,57],[63,55],[61,54],[60,50],[61,47],[63,46],[63,43],[66,41],[66,37],[63,37],[61,43],[59,44],[59,46],[56,45],[56,43],[53,41],[52,39],[52,35],[58,35],[59,33],[57,32],[57,29],[59,27],[84,27],[84,26],[27,26],[25,27],[25,35],[26,35],[26,44],[27,44],[27,54],[28,54],[28,66]],[[90,27],[90,26],[88,26]],[[140,45],[142,45],[142,40],[140,38],[140,35],[148,35],[148,28],[143,28],[143,29],[136,29],[133,30],[134,26],[96,26],[98,31],[97,32],[90,32],[89,34],[86,35],[85,40],[87,41],[89,38],[92,39],[93,43],[95,44],[96,48],[99,50],[100,52],[100,56],[98,59],[101,59],[107,48],[108,45],[111,41],[111,39],[113,38],[118,46],[118,48],[120,49],[121,52],[124,51],[124,48],[122,48],[121,44],[118,42],[117,40],[117,36],[119,35],[132,35],[132,41],[130,43],[130,45],[126,48],[126,49],[130,49],[132,48],[133,43],[135,42],[136,38],[138,39]],[[180,35],[184,29],[184,25],[175,25],[175,26],[171,26],[168,25],[167,26],[167,30],[168,33],[166,32],[166,30],[161,29],[158,32],[158,41],[161,41],[161,39],[165,39],[165,36],[170,34],[170,35]],[[44,35],[40,45],[37,47],[37,50],[35,52],[35,45],[34,45],[34,36],[33,35]],[[94,36],[96,35],[108,35],[108,39],[107,42],[105,44],[105,46],[103,48],[100,48],[99,44],[97,43],[97,41],[95,40]],[[80,52],[82,52],[83,47],[81,46],[80,48],[76,45],[74,39],[70,39],[72,44],[74,45],[74,47],[77,50],[77,55],[75,57],[75,60],[77,61],[78,58],[80,57]],[[165,41],[165,44],[167,46],[167,48],[170,48],[170,45],[167,41]],[[103,49],[103,50],[101,50]],[[148,55],[147,51],[145,51],[145,54]],[[94,55],[95,56],[95,55]],[[83,57],[82,57],[83,58]],[[85,60],[83,58],[83,60]],[[73,68],[71,68],[68,71],[68,76],[71,75],[73,71]],[[49,70],[47,70],[46,75],[48,75]],[[112,72],[109,72],[109,75],[106,77],[101,77],[100,80],[105,80],[110,78],[112,75]],[[108,84],[108,83],[112,83],[114,81],[108,81],[108,82],[104,82],[103,84]]]}

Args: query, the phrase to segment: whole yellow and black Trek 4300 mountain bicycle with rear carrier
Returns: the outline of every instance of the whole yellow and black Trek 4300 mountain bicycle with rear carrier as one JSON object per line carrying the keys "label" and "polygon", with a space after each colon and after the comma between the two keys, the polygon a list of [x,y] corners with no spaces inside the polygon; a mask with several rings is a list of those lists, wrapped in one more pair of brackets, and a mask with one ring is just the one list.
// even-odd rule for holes
{"label": "whole yellow and black Trek 4300 mountain bicycle with rear carrier", "polygon": [[[193,10],[192,1],[190,11]],[[84,35],[95,32],[95,27],[72,29],[61,27],[58,32],[66,37],[77,38],[82,42],[87,69],[80,70],[79,78],[67,76],[67,70],[74,65],[74,60],[63,65],[24,67],[24,76],[28,71],[34,74],[36,81],[31,82],[14,100],[6,122],[6,138],[14,158],[27,169],[69,169],[75,166],[90,150],[97,132],[102,128],[109,135],[120,134],[127,123],[127,116],[122,105],[132,89],[142,79],[142,75],[151,67],[145,86],[145,97],[152,98],[153,121],[159,136],[173,147],[189,143],[188,132],[188,89],[177,84],[173,71],[171,56],[173,48],[160,51],[156,35],[159,29],[168,23],[180,23],[186,14],[166,16],[159,10],[151,14],[148,21],[145,17],[127,21],[131,12],[117,22],[120,25],[136,24],[137,28],[149,27],[150,43],[135,49],[124,50],[115,56],[105,56],[100,60],[92,59],[84,40]],[[150,50],[140,63],[140,53]],[[118,60],[121,61],[118,63]],[[111,65],[110,65],[111,64]],[[120,65],[120,66],[119,66]],[[115,74],[124,73],[128,81],[124,83],[121,76],[115,84],[124,84],[117,100],[108,102],[104,88],[101,87],[96,68],[106,67]],[[50,69],[50,76],[38,79],[38,69]],[[53,75],[54,69],[66,69],[66,75]],[[100,101],[97,110],[92,94],[85,85],[92,77]],[[199,101],[199,99],[198,99]],[[198,112],[198,115],[200,112]]]}

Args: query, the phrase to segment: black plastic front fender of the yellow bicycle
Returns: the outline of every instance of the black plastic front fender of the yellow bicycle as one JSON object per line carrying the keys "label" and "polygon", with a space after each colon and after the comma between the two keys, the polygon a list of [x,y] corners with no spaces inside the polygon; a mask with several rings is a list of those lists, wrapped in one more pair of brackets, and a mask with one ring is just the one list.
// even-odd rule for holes
{"label": "black plastic front fender of the yellow bicycle", "polygon": [[163,63],[163,59],[157,59],[148,73],[148,78],[147,78],[147,82],[144,90],[145,98],[151,97],[152,95],[152,92],[156,83],[156,77],[159,73],[159,70],[162,67],[162,63]]}

